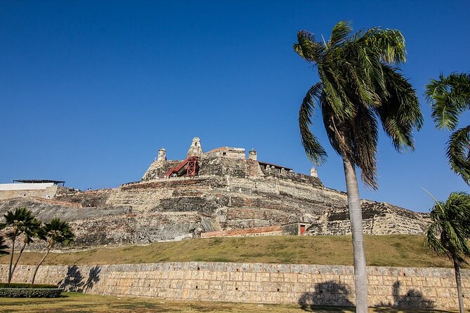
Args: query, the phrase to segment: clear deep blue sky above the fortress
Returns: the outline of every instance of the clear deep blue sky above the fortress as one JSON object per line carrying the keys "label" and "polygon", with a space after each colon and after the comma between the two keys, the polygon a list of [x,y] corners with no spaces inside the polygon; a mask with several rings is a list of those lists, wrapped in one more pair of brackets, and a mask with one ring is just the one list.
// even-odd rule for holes
{"label": "clear deep blue sky above the fortress", "polygon": [[[380,138],[379,190],[361,184],[361,197],[429,211],[422,187],[438,199],[469,191],[423,97],[440,72],[470,70],[469,16],[468,1],[0,1],[0,182],[117,187],[139,180],[160,147],[183,159],[194,136],[205,151],[253,147],[308,173],[297,113],[318,77],[292,44],[299,29],[327,38],[349,20],[403,32],[403,72],[425,118],[413,153]],[[329,152],[320,178],[344,190],[315,122]]]}

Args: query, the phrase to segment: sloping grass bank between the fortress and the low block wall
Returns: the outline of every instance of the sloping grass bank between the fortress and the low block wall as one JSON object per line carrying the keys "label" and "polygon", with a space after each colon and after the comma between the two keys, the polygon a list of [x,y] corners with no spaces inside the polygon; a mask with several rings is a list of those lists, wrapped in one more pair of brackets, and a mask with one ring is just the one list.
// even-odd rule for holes
{"label": "sloping grass bank between the fortress and the low block wall", "polygon": [[[423,237],[409,235],[366,236],[367,265],[450,267],[433,255]],[[23,253],[21,264],[36,264],[43,253]],[[8,264],[8,255],[0,263]],[[239,237],[193,239],[148,246],[95,248],[71,253],[51,253],[44,265],[97,265],[172,261],[268,262],[352,265],[350,236]]]}

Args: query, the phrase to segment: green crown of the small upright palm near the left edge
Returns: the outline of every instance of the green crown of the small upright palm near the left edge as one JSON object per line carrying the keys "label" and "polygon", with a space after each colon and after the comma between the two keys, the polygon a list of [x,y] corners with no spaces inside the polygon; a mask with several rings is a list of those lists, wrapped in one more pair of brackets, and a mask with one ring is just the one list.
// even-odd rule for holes
{"label": "green crown of the small upright palm near the left edge", "polygon": [[34,218],[32,211],[27,208],[17,208],[15,211],[8,211],[4,215],[4,219],[5,222],[2,226],[7,228],[5,232],[6,237],[12,240],[22,233],[27,235],[34,234],[40,225],[37,218]]}

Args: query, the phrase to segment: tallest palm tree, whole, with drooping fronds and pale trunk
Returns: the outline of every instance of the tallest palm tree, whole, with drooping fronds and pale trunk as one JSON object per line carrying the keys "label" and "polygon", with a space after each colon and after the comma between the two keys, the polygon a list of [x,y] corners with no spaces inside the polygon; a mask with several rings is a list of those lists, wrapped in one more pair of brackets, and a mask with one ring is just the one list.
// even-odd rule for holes
{"label": "tallest palm tree, whole, with drooping fronds and pale trunk", "polygon": [[353,235],[357,312],[367,312],[363,217],[355,168],[365,185],[377,189],[378,125],[398,152],[413,149],[413,130],[422,126],[414,89],[396,65],[405,62],[405,39],[395,29],[372,28],[351,34],[348,22],[333,27],[329,41],[297,34],[294,51],[318,69],[320,81],[307,92],[299,110],[301,142],[307,156],[322,164],[327,153],[311,133],[315,105],[321,110],[330,144],[343,159]]}

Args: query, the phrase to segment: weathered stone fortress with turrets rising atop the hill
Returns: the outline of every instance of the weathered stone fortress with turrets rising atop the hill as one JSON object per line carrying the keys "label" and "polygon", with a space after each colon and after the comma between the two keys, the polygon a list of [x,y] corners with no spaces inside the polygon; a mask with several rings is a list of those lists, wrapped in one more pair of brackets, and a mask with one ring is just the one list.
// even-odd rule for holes
{"label": "weathered stone fortress with turrets rising atop the hill", "polygon": [[[165,149],[139,182],[86,192],[58,185],[0,185],[0,216],[30,208],[44,221],[72,225],[77,246],[147,244],[195,237],[350,234],[346,193],[311,175],[259,161],[256,151],[203,152],[194,138],[184,160]],[[34,185],[34,184],[33,184]],[[42,188],[42,189],[41,189]],[[47,188],[47,189],[46,189]],[[429,215],[363,200],[366,234],[423,234]]]}

